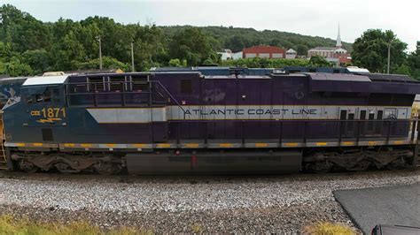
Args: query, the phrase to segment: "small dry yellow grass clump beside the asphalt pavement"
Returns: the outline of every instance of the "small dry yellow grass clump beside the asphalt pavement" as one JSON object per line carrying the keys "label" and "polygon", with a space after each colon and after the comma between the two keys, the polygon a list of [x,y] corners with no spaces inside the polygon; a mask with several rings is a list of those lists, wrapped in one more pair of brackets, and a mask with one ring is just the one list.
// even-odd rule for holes
{"label": "small dry yellow grass clump beside the asphalt pavement", "polygon": [[304,228],[304,234],[314,235],[353,235],[359,234],[360,232],[355,231],[353,228],[346,224],[330,223],[330,222],[318,222],[315,224],[308,225]]}

